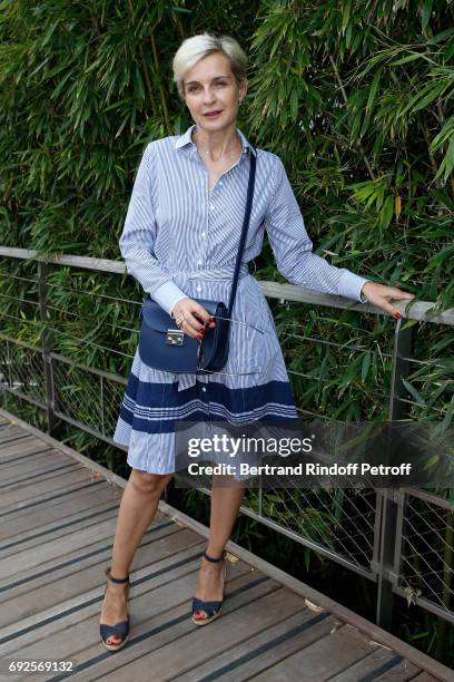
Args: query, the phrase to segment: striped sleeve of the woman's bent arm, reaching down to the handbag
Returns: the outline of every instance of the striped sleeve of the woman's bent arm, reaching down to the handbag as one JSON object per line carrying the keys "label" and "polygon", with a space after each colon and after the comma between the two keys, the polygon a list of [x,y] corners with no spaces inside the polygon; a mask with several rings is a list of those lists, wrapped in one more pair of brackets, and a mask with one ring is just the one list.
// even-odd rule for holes
{"label": "striped sleeve of the woman's bent arm, reaching down to the handbag", "polygon": [[177,301],[187,294],[151,255],[157,228],[151,195],[151,145],[145,149],[137,170],[119,246],[128,273],[170,314]]}

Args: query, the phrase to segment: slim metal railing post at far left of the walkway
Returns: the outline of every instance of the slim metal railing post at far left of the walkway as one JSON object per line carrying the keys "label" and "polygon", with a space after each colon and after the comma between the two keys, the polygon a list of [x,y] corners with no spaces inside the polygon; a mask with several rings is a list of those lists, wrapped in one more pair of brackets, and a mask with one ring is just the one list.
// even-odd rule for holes
{"label": "slim metal railing post at far left of the walkway", "polygon": [[62,422],[55,413],[55,386],[52,372],[52,358],[50,351],[52,349],[51,332],[48,329],[48,310],[47,310],[47,274],[48,265],[45,261],[38,263],[38,295],[39,295],[39,314],[42,324],[41,334],[41,352],[45,367],[46,382],[46,410],[48,421],[48,433],[53,438],[59,439],[62,430]]}

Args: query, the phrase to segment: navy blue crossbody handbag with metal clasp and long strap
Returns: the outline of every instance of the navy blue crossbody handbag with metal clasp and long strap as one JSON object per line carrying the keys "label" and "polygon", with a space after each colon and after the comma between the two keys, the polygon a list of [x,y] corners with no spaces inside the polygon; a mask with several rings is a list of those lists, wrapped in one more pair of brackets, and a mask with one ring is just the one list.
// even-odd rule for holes
{"label": "navy blue crossbody handbag with metal clasp and long strap", "polygon": [[230,318],[238,285],[239,269],[249,226],[253,206],[256,156],[249,154],[249,182],[247,187],[245,218],[239,238],[228,306],[223,301],[195,299],[215,318],[215,327],[206,328],[201,341],[181,331],[171,318],[148,294],[140,310],[141,329],[139,337],[140,360],[148,367],[175,373],[197,371],[218,372],[227,363],[230,334]]}

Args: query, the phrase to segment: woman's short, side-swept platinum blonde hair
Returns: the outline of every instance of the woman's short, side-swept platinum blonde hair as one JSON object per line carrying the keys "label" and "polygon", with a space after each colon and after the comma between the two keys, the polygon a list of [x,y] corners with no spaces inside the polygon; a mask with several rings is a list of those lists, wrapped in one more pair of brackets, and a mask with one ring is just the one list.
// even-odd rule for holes
{"label": "woman's short, side-swept platinum blonde hair", "polygon": [[198,36],[186,38],[174,57],[174,81],[177,84],[178,94],[181,99],[185,98],[182,80],[186,71],[191,69],[199,59],[213,52],[223,52],[228,57],[231,72],[238,86],[245,80],[247,57],[235,38],[229,36],[211,36],[207,32],[199,33]]}

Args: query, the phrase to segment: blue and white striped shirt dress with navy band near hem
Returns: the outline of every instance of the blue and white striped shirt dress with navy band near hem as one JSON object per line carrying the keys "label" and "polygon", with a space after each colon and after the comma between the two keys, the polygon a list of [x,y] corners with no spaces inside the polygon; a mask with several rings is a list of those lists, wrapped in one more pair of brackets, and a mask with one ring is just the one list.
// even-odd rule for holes
{"label": "blue and white striped shirt dress with navy band near hem", "polygon": [[[186,133],[149,143],[142,155],[122,234],[129,274],[167,312],[185,296],[229,300],[244,220],[249,155],[243,152],[209,193],[208,170]],[[302,213],[276,154],[257,149],[256,183],[244,265],[233,310],[228,363],[221,373],[174,374],[140,361],[136,348],[114,440],[128,464],[152,474],[175,471],[174,420],[297,418],[272,311],[248,263],[267,231],[276,264],[292,284],[364,302],[366,279],[312,252]]]}

